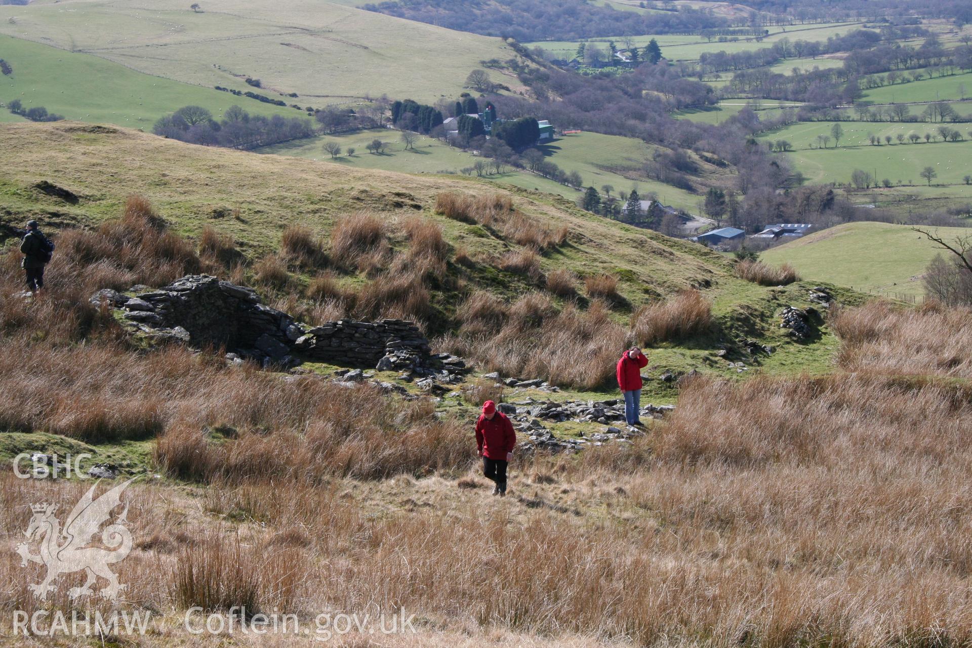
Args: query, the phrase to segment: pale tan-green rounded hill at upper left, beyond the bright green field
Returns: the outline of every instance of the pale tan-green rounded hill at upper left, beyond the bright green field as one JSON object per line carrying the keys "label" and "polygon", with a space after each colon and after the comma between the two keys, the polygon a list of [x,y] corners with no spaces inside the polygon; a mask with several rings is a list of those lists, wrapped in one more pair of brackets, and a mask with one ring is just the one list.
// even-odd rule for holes
{"label": "pale tan-green rounded hill at upper left, beyond the bright green field", "polygon": [[478,61],[513,55],[500,39],[318,0],[213,0],[198,13],[189,4],[0,6],[0,33],[194,85],[250,89],[243,80],[252,77],[315,105],[386,93],[431,101],[457,92]]}

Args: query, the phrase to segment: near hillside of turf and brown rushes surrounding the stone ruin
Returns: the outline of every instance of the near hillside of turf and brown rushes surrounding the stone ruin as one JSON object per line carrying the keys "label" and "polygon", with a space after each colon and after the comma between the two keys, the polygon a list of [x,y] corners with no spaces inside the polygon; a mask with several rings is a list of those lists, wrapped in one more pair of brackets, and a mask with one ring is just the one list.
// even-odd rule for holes
{"label": "near hillside of turf and brown rushes surrounding the stone ruin", "polygon": [[[71,599],[85,575],[60,574],[43,607],[50,623],[43,614],[33,619],[35,628],[62,629],[58,646],[280,648],[338,635],[335,645],[404,648],[972,643],[966,601],[956,596],[968,586],[970,563],[967,310],[854,308],[858,295],[835,288],[848,308],[797,343],[781,330],[780,313],[808,305],[816,282],[749,284],[701,246],[605,222],[556,196],[503,192],[499,200],[510,198],[527,219],[521,224],[570,229],[542,256],[548,276],[610,273],[632,306],[651,302],[656,317],[642,324],[687,314],[670,312],[679,301],[697,308],[712,301],[715,330],[645,345],[642,373],[650,379],[642,403],[677,398],[674,411],[644,417],[644,432],[590,420],[597,411],[586,421],[556,421],[539,403],[616,402],[618,392],[501,389],[477,378],[476,366],[432,397],[394,371],[374,372],[394,384],[389,390],[370,380],[338,382],[346,371],[319,362],[290,374],[235,366],[213,350],[126,344],[108,309],[88,301],[107,281],[122,289],[151,284],[159,272],[178,276],[200,263],[194,241],[177,234],[209,226],[232,236],[242,260],[262,262],[292,222],[325,239],[320,254],[292,259],[294,275],[326,267],[345,290],[352,281],[381,289],[390,278],[384,269],[370,278],[331,264],[339,248],[330,235],[350,231],[334,223],[367,208],[374,216],[340,222],[376,222],[370,231],[388,235],[382,242],[394,250],[384,252],[395,265],[422,262],[414,254],[422,241],[432,244],[425,253],[445,253],[439,260],[447,271],[417,289],[435,287],[436,301],[489,290],[476,310],[505,314],[503,333],[514,338],[506,348],[541,363],[548,354],[530,353],[532,323],[556,314],[557,326],[543,324],[545,350],[570,365],[603,360],[609,382],[626,346],[617,333],[628,306],[544,296],[539,291],[549,287],[476,254],[524,252],[502,222],[434,213],[442,191],[493,196],[493,186],[193,147],[79,122],[0,125],[0,164],[6,243],[15,242],[7,226],[28,216],[60,237],[37,298],[21,294],[14,246],[0,256],[0,588],[7,595],[0,615],[38,609],[28,586],[41,581],[44,566],[24,569],[15,551],[26,541],[33,554],[40,544],[41,534],[23,534],[46,524],[31,526],[32,504],[50,502],[64,520],[88,488],[100,495],[139,477],[122,496],[124,513],[111,518],[121,515],[135,547],[113,565],[121,599]],[[74,190],[77,203],[41,193],[41,179]],[[151,198],[168,231],[146,201],[122,207],[133,191]],[[235,217],[214,209],[234,205]],[[105,226],[87,228],[99,222]],[[71,226],[79,224],[86,228]],[[209,233],[205,240],[222,239]],[[306,252],[318,245],[308,235],[300,241]],[[215,267],[251,277],[246,264]],[[295,312],[303,279],[278,290],[259,284],[260,292]],[[656,294],[691,285],[698,292]],[[301,317],[313,322],[319,312]],[[608,344],[605,331],[613,336]],[[746,355],[752,338],[775,351]],[[744,359],[745,370],[728,365]],[[667,369],[703,375],[659,380]],[[505,496],[490,495],[476,453],[473,426],[486,397],[517,408],[522,445]],[[582,449],[553,452],[548,433]],[[83,468],[111,461],[123,472],[94,486],[17,479],[12,458],[35,452],[79,461],[86,453]],[[93,585],[97,591],[104,581]],[[115,609],[138,612],[149,631],[68,635],[71,626],[54,619],[71,618],[80,605],[106,619]],[[243,606],[272,613],[273,621],[236,616]],[[239,621],[230,625],[226,613]],[[393,613],[401,615],[395,622]],[[387,616],[375,621],[379,614]],[[394,638],[379,633],[393,623]],[[77,630],[82,624],[73,630],[85,632]],[[191,634],[207,626],[209,633]],[[4,646],[52,643],[7,628],[0,627]]]}

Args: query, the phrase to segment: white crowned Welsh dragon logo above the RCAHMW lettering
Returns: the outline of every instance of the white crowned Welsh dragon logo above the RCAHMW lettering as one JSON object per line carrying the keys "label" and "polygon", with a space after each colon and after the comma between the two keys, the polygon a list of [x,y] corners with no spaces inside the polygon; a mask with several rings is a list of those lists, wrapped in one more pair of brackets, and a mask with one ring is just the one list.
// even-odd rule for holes
{"label": "white crowned Welsh dragon logo above the RCAHMW lettering", "polygon": [[[17,554],[20,555],[21,566],[27,566],[29,561],[48,567],[47,577],[42,583],[28,586],[34,597],[47,600],[49,592],[57,591],[53,582],[58,576],[84,570],[87,572],[87,582],[82,587],[71,588],[68,597],[73,599],[93,595],[91,586],[97,583],[100,576],[108,581],[108,585],[101,588],[98,594],[112,601],[118,598],[126,586],[119,583],[118,576],[109,565],[121,563],[131,551],[131,533],[125,528],[128,523],[127,502],[121,516],[101,531],[101,542],[107,549],[87,545],[111,517],[112,511],[121,504],[121,494],[135,479],[129,479],[97,499],[93,497],[97,484],[91,486],[68,514],[64,529],[54,517],[57,510],[55,504],[31,505],[34,515],[24,532],[27,542],[17,545]],[[37,555],[31,554],[28,548],[28,543],[35,541],[40,542],[40,553]]]}

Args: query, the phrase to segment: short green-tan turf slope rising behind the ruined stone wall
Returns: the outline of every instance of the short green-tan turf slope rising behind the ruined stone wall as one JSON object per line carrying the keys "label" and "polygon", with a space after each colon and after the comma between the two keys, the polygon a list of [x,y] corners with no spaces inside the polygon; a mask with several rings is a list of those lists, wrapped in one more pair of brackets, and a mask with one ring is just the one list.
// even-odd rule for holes
{"label": "short green-tan turf slope rising behind the ruined stone wall", "polygon": [[[825,324],[820,325],[818,335],[803,343],[794,342],[780,328],[784,305],[809,304],[808,285],[767,288],[748,283],[733,275],[727,259],[703,246],[608,221],[551,194],[517,188],[497,193],[494,185],[472,178],[413,176],[198,147],[138,131],[76,122],[3,124],[0,164],[5,169],[0,180],[4,204],[0,233],[12,234],[13,227],[28,218],[37,218],[54,231],[90,227],[116,218],[125,197],[139,193],[179,234],[198,237],[209,228],[230,237],[242,254],[241,281],[253,281],[253,264],[276,257],[288,225],[306,225],[327,240],[334,224],[348,215],[364,211],[387,224],[393,256],[379,267],[379,274],[361,269],[349,274],[346,267],[292,263],[286,288],[276,290],[276,298],[291,304],[302,298],[319,273],[331,269],[338,273],[343,290],[381,290],[382,282],[394,284],[394,275],[388,273],[396,272],[397,263],[407,258],[403,255],[412,247],[403,231],[410,217],[420,216],[421,221],[441,229],[449,247],[445,274],[430,289],[434,316],[426,322],[436,333],[456,325],[459,307],[475,290],[512,303],[527,293],[544,290],[547,275],[567,270],[574,289],[579,290],[582,309],[591,303],[585,296],[589,292],[586,279],[608,276],[617,280],[617,293],[608,299],[607,315],[614,323],[612,330],[622,336],[640,306],[680,290],[697,288],[712,302],[716,326],[711,332],[653,345],[653,366],[659,373],[669,368],[737,375],[737,367],[719,359],[716,352],[736,348],[741,338],[775,348],[771,356],[749,358],[743,354],[736,358],[769,372],[827,370],[837,347]],[[74,192],[79,196],[77,204],[43,193],[36,188],[41,181]],[[548,231],[565,228],[566,240],[535,256],[536,271],[510,268],[505,259],[533,254],[528,244],[518,243],[502,226],[469,224],[435,213],[436,198],[443,192],[509,196],[516,212],[528,221]],[[236,209],[238,216],[233,217]],[[466,260],[459,260],[460,256]],[[407,266],[399,263],[398,267]],[[52,272],[56,272],[56,264]],[[273,288],[264,290],[274,292]],[[557,296],[549,308],[567,308],[570,303]],[[599,344],[613,349],[615,343]]]}

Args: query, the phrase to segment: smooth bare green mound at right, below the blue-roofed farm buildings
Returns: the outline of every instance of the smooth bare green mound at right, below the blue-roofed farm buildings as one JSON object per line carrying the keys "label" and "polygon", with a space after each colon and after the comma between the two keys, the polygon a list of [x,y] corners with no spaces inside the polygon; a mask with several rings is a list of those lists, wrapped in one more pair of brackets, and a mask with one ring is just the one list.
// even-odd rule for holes
{"label": "smooth bare green mound at right, below the blue-roofed farm buildings", "polygon": [[[935,227],[950,238],[963,227]],[[935,255],[948,254],[908,225],[849,222],[773,248],[761,256],[793,265],[806,279],[852,286],[857,290],[923,294],[921,275]]]}

